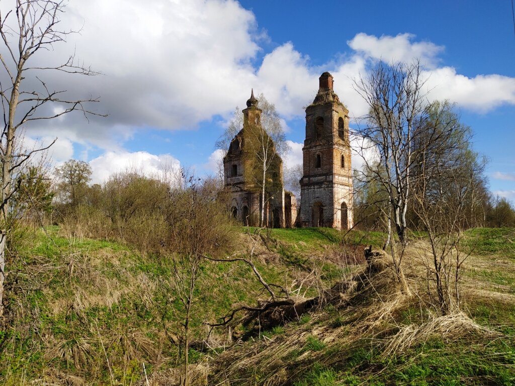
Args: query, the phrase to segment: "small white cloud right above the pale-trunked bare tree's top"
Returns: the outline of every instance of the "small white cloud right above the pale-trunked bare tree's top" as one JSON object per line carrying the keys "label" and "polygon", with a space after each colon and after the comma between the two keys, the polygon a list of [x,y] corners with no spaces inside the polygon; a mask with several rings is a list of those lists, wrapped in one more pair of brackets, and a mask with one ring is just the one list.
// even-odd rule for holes
{"label": "small white cloud right above the pale-trunked bare tree's top", "polygon": [[439,61],[437,55],[444,47],[431,42],[413,42],[414,39],[415,35],[411,33],[377,38],[361,32],[347,44],[367,58],[383,60],[386,63],[411,62],[414,58],[419,58],[422,65],[434,67]]}

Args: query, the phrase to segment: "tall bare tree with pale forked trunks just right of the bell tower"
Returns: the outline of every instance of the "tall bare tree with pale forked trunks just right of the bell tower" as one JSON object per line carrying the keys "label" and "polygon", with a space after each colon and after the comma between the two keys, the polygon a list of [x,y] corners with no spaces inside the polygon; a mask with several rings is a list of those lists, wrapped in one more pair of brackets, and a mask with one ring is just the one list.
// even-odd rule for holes
{"label": "tall bare tree with pale forked trunks just right of the bell tower", "polygon": [[380,62],[366,78],[355,83],[356,91],[367,101],[369,112],[358,128],[367,144],[362,155],[373,147],[379,162],[369,164],[363,156],[369,176],[388,196],[386,215],[405,245],[411,183],[414,178],[414,138],[428,118],[423,92],[424,80],[419,62],[390,64]]}

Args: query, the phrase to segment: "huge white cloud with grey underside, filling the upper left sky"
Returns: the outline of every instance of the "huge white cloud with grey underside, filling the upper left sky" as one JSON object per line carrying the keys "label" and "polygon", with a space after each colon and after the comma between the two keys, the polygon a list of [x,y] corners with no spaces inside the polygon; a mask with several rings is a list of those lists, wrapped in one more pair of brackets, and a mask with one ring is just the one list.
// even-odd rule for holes
{"label": "huge white cloud with grey underside, filling the upper left sky", "polygon": [[[32,132],[111,148],[142,127],[194,128],[246,100],[255,83],[256,21],[235,1],[74,0],[60,25],[83,27],[34,63],[58,64],[75,50],[104,75],[38,75],[52,89],[69,90],[71,99],[100,96],[89,108],[109,116],[91,117],[88,125],[80,114],[66,115],[31,125]],[[25,84],[39,87],[35,77]]]}

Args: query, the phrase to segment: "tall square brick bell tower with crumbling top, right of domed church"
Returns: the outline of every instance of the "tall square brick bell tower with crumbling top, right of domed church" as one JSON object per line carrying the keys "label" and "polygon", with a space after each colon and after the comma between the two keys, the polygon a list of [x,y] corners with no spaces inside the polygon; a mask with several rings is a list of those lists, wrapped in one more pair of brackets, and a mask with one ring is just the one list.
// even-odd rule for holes
{"label": "tall square brick bell tower with crumbling top, right of domed church", "polygon": [[317,96],[306,108],[302,226],[349,229],[353,226],[349,110],[333,91],[333,76],[323,73]]}

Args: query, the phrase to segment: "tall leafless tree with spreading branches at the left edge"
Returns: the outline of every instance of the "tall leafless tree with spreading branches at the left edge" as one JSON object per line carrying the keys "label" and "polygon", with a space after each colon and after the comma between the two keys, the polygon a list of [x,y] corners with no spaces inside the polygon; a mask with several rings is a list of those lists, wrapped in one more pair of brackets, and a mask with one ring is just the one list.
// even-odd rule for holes
{"label": "tall leafless tree with spreading branches at the left edge", "polygon": [[[16,153],[16,131],[36,121],[57,118],[72,111],[85,116],[98,115],[87,108],[88,102],[98,98],[68,99],[64,90],[53,90],[42,76],[48,71],[67,74],[96,75],[90,67],[78,63],[75,56],[68,57],[54,66],[39,66],[40,52],[52,50],[54,44],[63,43],[66,37],[77,31],[60,28],[60,16],[65,3],[51,0],[16,0],[13,7],[0,11],[0,37],[4,49],[0,51],[3,74],[0,75],[0,97],[4,128],[0,142],[2,167],[2,200],[0,201],[0,315],[3,313],[5,279],[5,251],[8,229],[6,226],[9,201],[16,190],[13,176],[17,168],[30,156],[43,149]],[[33,84],[37,82],[39,87]]]}

